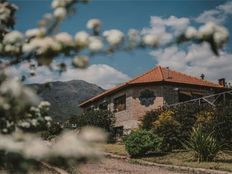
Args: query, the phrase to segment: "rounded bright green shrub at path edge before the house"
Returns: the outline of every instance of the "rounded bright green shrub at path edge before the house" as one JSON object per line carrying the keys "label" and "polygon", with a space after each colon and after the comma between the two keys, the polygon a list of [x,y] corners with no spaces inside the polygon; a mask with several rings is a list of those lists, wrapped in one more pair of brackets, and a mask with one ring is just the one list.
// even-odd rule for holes
{"label": "rounded bright green shrub at path edge before the house", "polygon": [[162,139],[146,130],[136,130],[125,137],[125,148],[131,157],[143,156],[149,151],[158,150]]}

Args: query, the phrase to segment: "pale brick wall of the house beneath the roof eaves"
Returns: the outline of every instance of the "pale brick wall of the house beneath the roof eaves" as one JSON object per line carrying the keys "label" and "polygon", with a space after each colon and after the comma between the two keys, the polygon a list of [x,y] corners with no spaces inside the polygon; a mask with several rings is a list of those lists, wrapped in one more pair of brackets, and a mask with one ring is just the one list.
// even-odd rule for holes
{"label": "pale brick wall of the house beneath the roof eaves", "polygon": [[[141,104],[139,97],[142,91],[153,91],[155,100],[152,105],[144,106]],[[146,112],[158,109],[164,104],[174,104],[179,102],[178,91],[194,91],[210,95],[214,93],[213,90],[202,89],[193,86],[180,86],[180,85],[146,85],[146,86],[134,86],[121,90],[111,96],[102,98],[101,100],[94,102],[95,108],[98,107],[103,101],[108,102],[108,109],[114,112],[114,99],[122,95],[126,95],[126,110],[115,112],[116,127],[123,126],[124,130],[135,129],[138,127],[141,118]]]}

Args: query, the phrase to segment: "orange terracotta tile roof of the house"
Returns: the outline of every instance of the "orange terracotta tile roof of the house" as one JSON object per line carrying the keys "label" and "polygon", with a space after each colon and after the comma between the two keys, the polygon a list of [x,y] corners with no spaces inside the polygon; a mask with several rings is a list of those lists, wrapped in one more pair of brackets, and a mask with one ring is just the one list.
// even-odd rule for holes
{"label": "orange terracotta tile roof of the house", "polygon": [[93,102],[103,96],[109,95],[117,90],[125,88],[129,85],[135,84],[145,84],[145,83],[155,83],[155,82],[168,82],[168,83],[179,83],[179,84],[187,84],[187,85],[196,85],[201,87],[209,87],[209,88],[223,88],[223,86],[209,82],[207,80],[202,80],[190,75],[186,75],[184,73],[176,72],[169,68],[157,66],[152,70],[126,82],[114,88],[111,88],[89,100],[86,100],[80,104],[80,106],[84,106],[89,102]]}

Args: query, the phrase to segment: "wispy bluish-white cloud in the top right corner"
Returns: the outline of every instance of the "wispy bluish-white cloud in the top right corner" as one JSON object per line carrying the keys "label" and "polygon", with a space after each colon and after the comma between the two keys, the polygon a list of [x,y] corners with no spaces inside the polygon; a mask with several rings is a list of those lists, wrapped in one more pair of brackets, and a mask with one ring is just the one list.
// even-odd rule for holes
{"label": "wispy bluish-white cloud in the top right corner", "polygon": [[232,14],[232,2],[226,2],[225,4],[217,6],[215,9],[206,10],[195,18],[196,22],[206,23],[215,22],[223,23]]}

